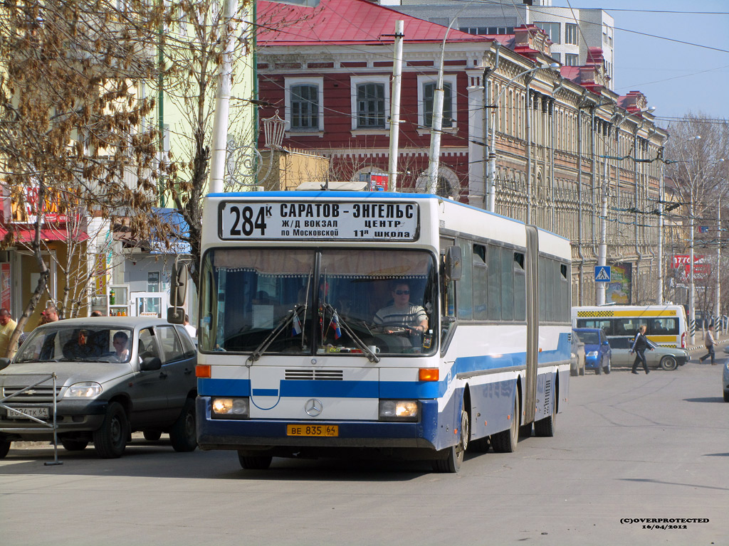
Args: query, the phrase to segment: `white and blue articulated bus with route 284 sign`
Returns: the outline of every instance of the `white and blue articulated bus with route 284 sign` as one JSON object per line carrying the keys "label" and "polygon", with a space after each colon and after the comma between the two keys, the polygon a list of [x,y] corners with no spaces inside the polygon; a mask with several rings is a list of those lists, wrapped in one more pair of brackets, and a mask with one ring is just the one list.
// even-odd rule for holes
{"label": "white and blue articulated bus with route 284 sign", "polygon": [[456,472],[551,436],[569,389],[569,240],[424,194],[210,194],[198,443],[373,449]]}

